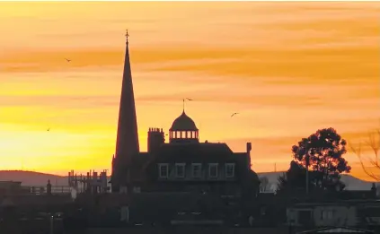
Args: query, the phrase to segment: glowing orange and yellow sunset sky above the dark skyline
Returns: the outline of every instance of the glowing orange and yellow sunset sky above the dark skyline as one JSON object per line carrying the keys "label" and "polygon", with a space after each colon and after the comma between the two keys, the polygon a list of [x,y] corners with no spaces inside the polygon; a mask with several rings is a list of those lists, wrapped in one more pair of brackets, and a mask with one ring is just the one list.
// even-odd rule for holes
{"label": "glowing orange and yellow sunset sky above the dark skyline", "polygon": [[110,169],[126,29],[142,151],[185,97],[200,141],[252,142],[257,172],[287,169],[320,128],[364,141],[380,126],[378,15],[376,2],[2,2],[0,169]]}

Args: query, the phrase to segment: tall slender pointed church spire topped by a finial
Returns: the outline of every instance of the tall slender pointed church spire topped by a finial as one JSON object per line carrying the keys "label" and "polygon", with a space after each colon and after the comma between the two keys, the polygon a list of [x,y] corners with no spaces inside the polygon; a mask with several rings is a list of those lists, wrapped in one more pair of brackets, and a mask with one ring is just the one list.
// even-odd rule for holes
{"label": "tall slender pointed church spire topped by a finial", "polygon": [[[139,152],[138,134],[137,134],[137,117],[135,107],[135,97],[133,92],[132,73],[129,62],[128,48],[128,30],[126,33],[126,54],[124,59],[124,73],[121,87],[121,96],[119,104],[119,123],[118,135],[116,139],[115,160],[117,165],[114,166],[112,174],[115,176],[123,176],[120,170],[125,170],[128,167],[130,160],[137,156]],[[119,184],[118,178],[112,178],[115,184]],[[113,186],[113,185],[112,185]]]}

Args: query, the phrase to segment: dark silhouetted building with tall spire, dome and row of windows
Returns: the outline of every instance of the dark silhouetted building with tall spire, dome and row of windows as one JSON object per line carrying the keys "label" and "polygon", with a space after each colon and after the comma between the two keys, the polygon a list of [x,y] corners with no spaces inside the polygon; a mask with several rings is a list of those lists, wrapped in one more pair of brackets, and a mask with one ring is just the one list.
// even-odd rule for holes
{"label": "dark silhouetted building with tall spire, dome and row of windows", "polygon": [[[199,129],[185,110],[168,134],[149,128],[147,152],[140,152],[129,61],[128,33],[119,104],[116,152],[112,159],[112,193],[194,192],[254,195],[259,178],[251,169],[252,144],[233,152],[226,143],[199,141]],[[165,135],[169,139],[165,139]]]}

